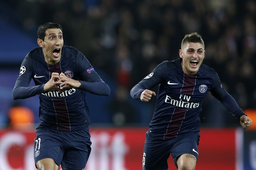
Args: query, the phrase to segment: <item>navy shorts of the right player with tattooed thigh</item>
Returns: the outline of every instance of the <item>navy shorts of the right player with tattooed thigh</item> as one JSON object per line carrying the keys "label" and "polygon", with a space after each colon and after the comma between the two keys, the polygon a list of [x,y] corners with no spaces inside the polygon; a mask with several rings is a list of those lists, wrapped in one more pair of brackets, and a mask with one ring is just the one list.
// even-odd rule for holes
{"label": "navy shorts of the right player with tattooed thigh", "polygon": [[143,170],[167,170],[167,159],[170,154],[178,168],[177,159],[183,154],[192,154],[198,159],[199,133],[186,133],[178,135],[172,140],[154,139],[146,133],[143,153]]}

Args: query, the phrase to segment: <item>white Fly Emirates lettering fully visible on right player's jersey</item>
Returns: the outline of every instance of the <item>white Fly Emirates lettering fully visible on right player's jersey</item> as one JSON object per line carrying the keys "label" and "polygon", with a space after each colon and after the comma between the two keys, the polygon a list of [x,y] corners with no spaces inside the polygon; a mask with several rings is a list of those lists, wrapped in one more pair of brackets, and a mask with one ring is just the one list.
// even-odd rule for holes
{"label": "white Fly Emirates lettering fully visible on right player's jersey", "polygon": [[170,103],[171,105],[175,105],[177,107],[185,107],[191,109],[199,107],[199,103],[189,102],[191,96],[180,94],[179,98],[180,100],[174,100],[170,96],[166,95],[165,103]]}

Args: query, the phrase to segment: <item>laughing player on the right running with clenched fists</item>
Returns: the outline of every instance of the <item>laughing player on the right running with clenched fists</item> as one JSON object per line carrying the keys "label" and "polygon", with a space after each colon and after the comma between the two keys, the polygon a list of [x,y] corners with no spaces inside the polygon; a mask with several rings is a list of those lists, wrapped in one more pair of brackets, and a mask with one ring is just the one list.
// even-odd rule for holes
{"label": "laughing player on the right running with clenched fists", "polygon": [[199,113],[208,92],[240,121],[243,129],[251,126],[252,120],[225,91],[215,70],[202,64],[204,55],[201,35],[187,34],[182,40],[179,59],[162,62],[131,89],[134,99],[148,102],[156,96],[150,89],[159,86],[155,112],[146,132],[143,170],[168,169],[170,153],[179,170],[195,169]]}

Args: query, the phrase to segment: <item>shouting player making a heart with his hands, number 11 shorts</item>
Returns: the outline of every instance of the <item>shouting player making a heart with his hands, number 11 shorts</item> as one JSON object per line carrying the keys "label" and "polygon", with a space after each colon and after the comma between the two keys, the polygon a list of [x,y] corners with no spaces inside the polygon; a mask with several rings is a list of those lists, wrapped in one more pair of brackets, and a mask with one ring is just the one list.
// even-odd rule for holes
{"label": "shouting player making a heart with his hands, number 11 shorts", "polygon": [[[62,26],[45,23],[38,45],[21,64],[13,99],[39,94],[40,124],[34,140],[39,170],[82,170],[91,152],[86,92],[109,96],[108,85],[77,49],[63,45]],[[31,78],[35,86],[28,87]]]}

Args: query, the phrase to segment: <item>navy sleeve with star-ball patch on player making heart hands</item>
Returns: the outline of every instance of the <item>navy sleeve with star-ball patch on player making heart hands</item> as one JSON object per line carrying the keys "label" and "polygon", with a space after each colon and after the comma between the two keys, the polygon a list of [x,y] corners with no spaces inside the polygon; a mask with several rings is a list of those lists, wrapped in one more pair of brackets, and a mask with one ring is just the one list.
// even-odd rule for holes
{"label": "navy sleeve with star-ball patch on player making heart hands", "polygon": [[28,87],[32,76],[33,64],[30,58],[30,53],[28,53],[21,64],[20,74],[12,91],[12,97],[14,100],[29,98],[44,92],[44,84]]}

